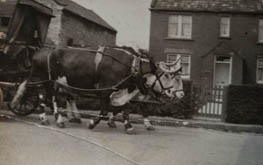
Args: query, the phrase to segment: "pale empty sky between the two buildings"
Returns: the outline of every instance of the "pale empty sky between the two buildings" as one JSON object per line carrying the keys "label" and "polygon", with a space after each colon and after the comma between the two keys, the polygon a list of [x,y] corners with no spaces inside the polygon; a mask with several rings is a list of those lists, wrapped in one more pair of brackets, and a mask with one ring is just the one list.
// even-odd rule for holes
{"label": "pale empty sky between the two buildings", "polygon": [[118,31],[117,45],[149,48],[151,0],[73,0]]}

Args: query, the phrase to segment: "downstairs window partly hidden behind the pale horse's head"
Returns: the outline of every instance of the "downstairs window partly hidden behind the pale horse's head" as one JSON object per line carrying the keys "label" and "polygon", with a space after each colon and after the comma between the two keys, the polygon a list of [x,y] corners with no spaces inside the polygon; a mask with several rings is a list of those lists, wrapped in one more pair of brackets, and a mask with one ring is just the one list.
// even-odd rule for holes
{"label": "downstairs window partly hidden behind the pale horse's head", "polygon": [[177,56],[181,56],[181,65],[182,65],[182,78],[190,79],[191,72],[191,56],[187,54],[168,54],[167,62],[174,62],[177,59]]}

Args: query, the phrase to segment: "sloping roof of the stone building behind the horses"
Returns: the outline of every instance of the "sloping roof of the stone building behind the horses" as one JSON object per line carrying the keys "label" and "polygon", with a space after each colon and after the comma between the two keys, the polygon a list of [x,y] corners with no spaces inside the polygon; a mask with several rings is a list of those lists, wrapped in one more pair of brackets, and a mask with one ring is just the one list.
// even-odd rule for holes
{"label": "sloping roof of the stone building behind the horses", "polygon": [[103,20],[99,15],[93,12],[90,9],[87,9],[71,0],[55,0],[60,5],[64,5],[64,10],[72,12],[86,20],[89,20],[93,23],[96,23],[100,26],[103,26],[113,32],[117,32],[112,26],[110,26],[105,20]]}

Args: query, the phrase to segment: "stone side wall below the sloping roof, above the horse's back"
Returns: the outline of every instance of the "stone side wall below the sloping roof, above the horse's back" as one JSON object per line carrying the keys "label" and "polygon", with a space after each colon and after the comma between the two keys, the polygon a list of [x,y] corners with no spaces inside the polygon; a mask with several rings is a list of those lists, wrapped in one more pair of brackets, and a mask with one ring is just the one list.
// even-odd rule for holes
{"label": "stone side wall below the sloping roof, above the horse's back", "polygon": [[60,44],[67,45],[73,39],[74,45],[115,45],[116,33],[87,21],[75,14],[63,11]]}

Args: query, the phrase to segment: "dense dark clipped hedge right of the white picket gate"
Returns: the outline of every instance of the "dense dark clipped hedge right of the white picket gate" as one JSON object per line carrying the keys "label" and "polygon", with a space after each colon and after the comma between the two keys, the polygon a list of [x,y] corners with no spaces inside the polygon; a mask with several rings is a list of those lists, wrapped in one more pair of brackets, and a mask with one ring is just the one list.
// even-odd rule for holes
{"label": "dense dark clipped hedge right of the white picket gate", "polygon": [[262,85],[230,85],[226,96],[226,122],[263,124]]}

